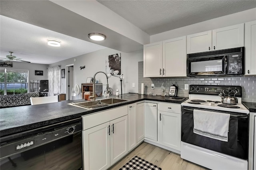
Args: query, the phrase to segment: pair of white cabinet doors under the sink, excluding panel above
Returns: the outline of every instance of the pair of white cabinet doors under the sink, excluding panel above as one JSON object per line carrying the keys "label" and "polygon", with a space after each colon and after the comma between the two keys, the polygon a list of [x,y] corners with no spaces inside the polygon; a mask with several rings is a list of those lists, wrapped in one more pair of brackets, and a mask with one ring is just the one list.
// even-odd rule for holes
{"label": "pair of white cabinet doors under the sink, excluding panel above", "polygon": [[107,169],[128,153],[128,116],[83,131],[84,168]]}

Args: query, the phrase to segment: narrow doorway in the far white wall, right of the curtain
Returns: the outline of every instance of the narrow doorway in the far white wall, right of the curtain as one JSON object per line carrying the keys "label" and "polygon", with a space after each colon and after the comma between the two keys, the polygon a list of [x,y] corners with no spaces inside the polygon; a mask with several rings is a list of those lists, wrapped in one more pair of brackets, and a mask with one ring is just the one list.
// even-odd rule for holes
{"label": "narrow doorway in the far white wall, right of the curtain", "polygon": [[67,100],[71,99],[72,88],[74,87],[74,64],[66,65],[67,79],[66,79],[66,94]]}

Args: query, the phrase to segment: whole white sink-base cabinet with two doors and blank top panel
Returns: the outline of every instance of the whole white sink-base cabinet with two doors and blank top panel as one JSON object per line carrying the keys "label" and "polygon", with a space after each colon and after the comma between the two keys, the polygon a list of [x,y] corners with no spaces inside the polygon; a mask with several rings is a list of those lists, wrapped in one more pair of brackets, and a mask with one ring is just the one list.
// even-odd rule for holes
{"label": "whole white sink-base cabinet with two doors and blank top panel", "polygon": [[128,106],[82,116],[85,170],[107,169],[128,153]]}

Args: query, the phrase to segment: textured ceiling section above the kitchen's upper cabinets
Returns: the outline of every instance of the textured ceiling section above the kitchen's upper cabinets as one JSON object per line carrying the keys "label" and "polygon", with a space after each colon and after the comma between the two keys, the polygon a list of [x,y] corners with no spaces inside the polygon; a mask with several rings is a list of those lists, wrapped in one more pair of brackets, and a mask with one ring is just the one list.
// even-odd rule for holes
{"label": "textured ceiling section above the kitchen's upper cabinets", "polygon": [[149,35],[256,8],[256,0],[97,0]]}

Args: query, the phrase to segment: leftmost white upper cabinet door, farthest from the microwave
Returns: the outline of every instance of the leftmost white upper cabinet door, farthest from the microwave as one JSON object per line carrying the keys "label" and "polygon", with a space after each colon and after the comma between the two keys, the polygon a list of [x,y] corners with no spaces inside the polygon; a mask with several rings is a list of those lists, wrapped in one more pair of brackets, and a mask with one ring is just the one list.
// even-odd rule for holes
{"label": "leftmost white upper cabinet door, farthest from the microwave", "polygon": [[144,45],[143,76],[162,77],[162,42]]}

